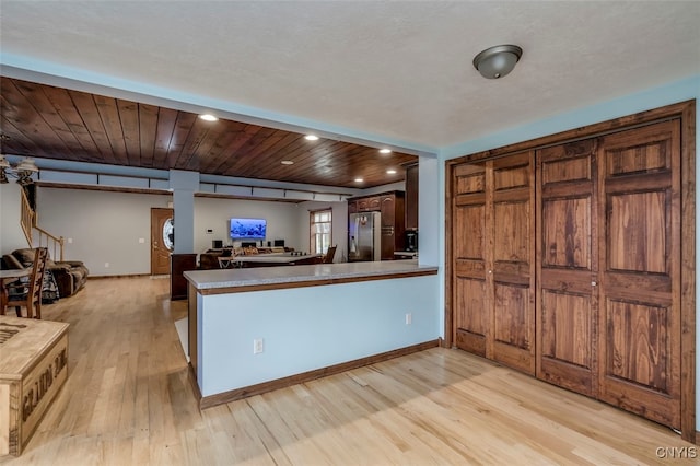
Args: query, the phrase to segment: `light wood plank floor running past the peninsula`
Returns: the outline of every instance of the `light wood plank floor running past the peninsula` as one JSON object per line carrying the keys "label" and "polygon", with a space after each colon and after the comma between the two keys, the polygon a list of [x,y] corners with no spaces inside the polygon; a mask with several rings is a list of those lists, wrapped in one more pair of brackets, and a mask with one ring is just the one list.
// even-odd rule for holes
{"label": "light wood plank floor running past the peninsula", "polygon": [[167,279],[147,277],[90,280],[45,305],[45,318],[71,324],[70,376],[23,455],[0,464],[603,465],[696,455],[666,428],[439,348],[200,412],[173,325],[185,305],[170,302]]}

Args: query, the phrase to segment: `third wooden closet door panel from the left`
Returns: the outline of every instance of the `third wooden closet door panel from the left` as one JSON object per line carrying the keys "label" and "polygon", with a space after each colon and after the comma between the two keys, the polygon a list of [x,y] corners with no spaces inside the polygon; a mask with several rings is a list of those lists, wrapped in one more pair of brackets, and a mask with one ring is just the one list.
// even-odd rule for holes
{"label": "third wooden closet door panel from the left", "polygon": [[597,395],[594,139],[537,151],[537,376]]}

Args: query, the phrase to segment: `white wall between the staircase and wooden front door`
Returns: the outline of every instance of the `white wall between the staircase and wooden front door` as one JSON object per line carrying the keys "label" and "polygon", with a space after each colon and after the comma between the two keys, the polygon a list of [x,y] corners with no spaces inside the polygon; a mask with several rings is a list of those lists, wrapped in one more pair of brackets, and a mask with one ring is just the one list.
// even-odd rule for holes
{"label": "white wall between the staircase and wooden front door", "polygon": [[93,277],[150,273],[151,208],[171,201],[167,195],[39,187],[38,225],[67,238],[65,258],[82,260]]}

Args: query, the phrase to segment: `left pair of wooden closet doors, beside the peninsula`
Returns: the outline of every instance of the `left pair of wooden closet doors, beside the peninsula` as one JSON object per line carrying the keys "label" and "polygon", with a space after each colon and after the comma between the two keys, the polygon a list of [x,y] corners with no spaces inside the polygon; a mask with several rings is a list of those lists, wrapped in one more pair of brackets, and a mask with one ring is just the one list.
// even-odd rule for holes
{"label": "left pair of wooden closet doors, beside the peninsula", "polygon": [[535,373],[534,153],[456,167],[458,348]]}

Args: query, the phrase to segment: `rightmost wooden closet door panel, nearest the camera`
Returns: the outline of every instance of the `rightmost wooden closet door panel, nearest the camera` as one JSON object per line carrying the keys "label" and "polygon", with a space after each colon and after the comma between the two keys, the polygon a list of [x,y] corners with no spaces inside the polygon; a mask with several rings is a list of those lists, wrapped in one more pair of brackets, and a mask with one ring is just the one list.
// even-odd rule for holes
{"label": "rightmost wooden closet door panel, nearest the camera", "polygon": [[600,140],[599,398],[680,428],[680,126]]}

